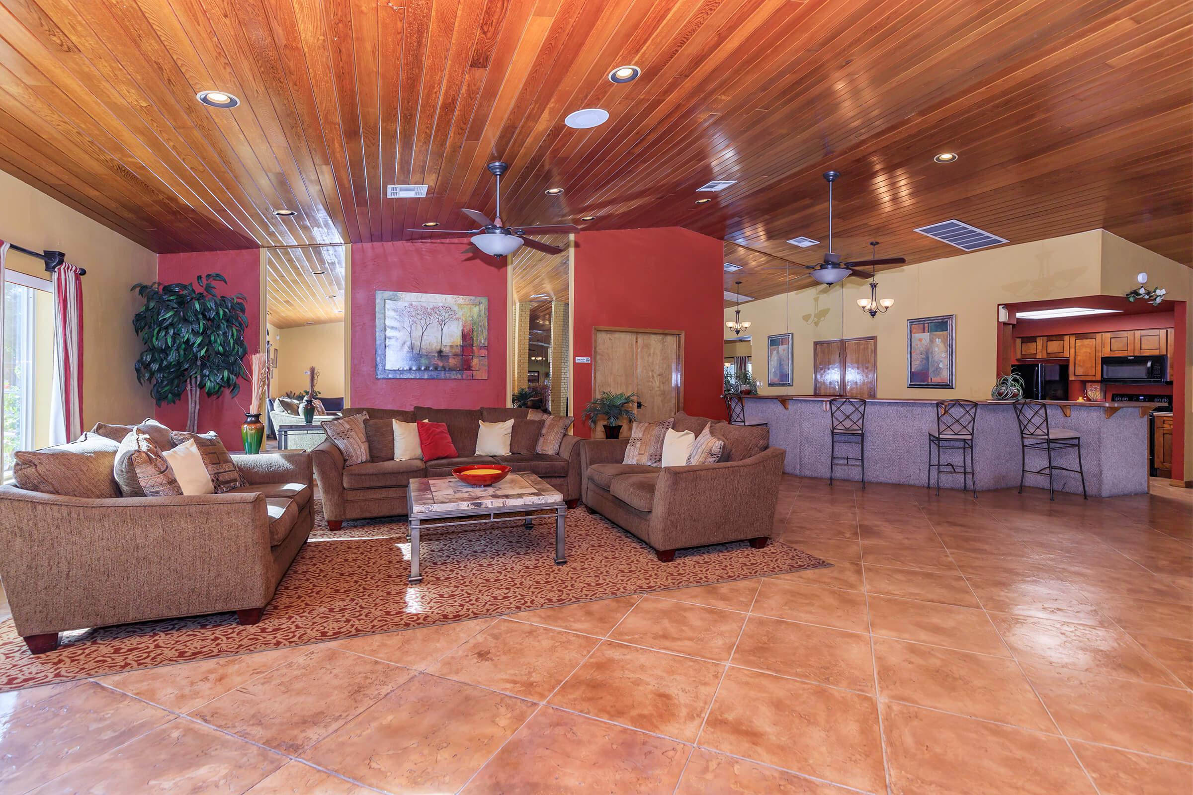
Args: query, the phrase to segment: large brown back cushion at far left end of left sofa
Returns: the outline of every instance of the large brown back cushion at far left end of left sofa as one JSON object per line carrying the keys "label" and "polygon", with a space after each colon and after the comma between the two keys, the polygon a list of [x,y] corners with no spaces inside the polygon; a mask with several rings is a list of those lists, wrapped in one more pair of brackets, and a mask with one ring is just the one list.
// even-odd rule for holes
{"label": "large brown back cushion at far left end of left sofa", "polygon": [[120,443],[94,431],[67,445],[18,451],[13,482],[21,489],[70,497],[119,497],[113,468]]}

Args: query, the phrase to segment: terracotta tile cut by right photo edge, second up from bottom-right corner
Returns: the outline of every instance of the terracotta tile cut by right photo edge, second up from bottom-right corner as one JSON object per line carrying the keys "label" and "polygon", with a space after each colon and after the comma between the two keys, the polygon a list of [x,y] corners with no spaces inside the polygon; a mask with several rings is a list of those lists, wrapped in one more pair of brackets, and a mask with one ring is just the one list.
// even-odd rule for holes
{"label": "terracotta tile cut by right photo edge, second up from bottom-right corner", "polygon": [[1065,737],[1193,762],[1193,692],[1044,665],[1027,666]]}

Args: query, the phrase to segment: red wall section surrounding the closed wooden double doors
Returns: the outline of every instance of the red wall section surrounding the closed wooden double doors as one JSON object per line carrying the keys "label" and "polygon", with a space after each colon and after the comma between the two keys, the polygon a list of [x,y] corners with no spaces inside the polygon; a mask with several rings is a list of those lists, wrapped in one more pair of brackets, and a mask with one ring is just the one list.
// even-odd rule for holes
{"label": "red wall section surrounding the closed wooden double doors", "polygon": [[[675,329],[684,336],[684,410],[728,418],[724,361],[724,243],[678,226],[579,232],[571,285],[573,356],[593,355],[593,328]],[[593,366],[573,364],[571,414],[592,399]]]}

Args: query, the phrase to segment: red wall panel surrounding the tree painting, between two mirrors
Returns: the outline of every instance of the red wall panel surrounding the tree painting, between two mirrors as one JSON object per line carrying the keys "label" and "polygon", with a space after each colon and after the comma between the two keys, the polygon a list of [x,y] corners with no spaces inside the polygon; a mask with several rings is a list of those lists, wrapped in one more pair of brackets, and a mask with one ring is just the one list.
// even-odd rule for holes
{"label": "red wall panel surrounding the tree painting, between two mirrors", "polygon": [[[352,247],[352,391],[354,406],[476,409],[506,405],[506,261],[464,254],[468,241],[357,243]],[[382,291],[484,296],[489,299],[487,379],[377,378],[377,298]]]}

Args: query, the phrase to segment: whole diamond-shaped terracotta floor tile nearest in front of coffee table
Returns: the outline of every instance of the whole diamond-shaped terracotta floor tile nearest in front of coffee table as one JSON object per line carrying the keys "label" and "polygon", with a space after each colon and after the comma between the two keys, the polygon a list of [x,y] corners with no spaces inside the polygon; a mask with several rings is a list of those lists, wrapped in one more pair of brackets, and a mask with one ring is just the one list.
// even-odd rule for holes
{"label": "whole diamond-shaped terracotta floor tile nearest in front of coffee table", "polygon": [[587,635],[501,620],[427,670],[543,701],[598,642]]}

